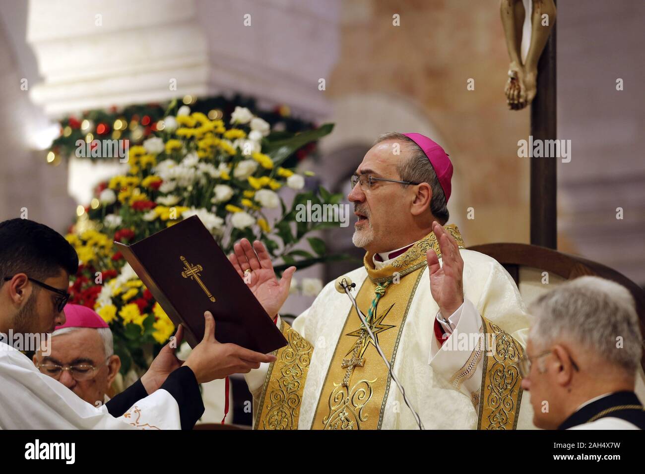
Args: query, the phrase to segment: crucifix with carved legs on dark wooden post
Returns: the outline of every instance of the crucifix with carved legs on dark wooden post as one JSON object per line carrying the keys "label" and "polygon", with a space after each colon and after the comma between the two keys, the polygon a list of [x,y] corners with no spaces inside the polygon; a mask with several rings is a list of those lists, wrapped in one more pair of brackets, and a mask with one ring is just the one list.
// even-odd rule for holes
{"label": "crucifix with carved legs on dark wooden post", "polygon": [[[511,63],[506,100],[511,110],[531,106],[533,140],[557,137],[555,0],[531,2],[531,41],[522,64],[522,0],[501,0],[500,12]],[[555,159],[531,157],[531,244],[557,248]]]}

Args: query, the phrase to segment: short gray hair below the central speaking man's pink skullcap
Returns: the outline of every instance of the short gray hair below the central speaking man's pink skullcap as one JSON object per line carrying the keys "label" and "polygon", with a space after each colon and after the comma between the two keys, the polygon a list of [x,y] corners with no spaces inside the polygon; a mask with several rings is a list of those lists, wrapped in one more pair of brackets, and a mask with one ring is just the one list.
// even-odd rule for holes
{"label": "short gray hair below the central speaking man's pink skullcap", "polygon": [[[406,137],[406,135],[397,132],[388,132],[379,135],[372,146],[386,140],[397,140],[408,146],[410,157],[401,161],[401,163],[397,163],[397,172],[401,176],[401,181],[430,184],[430,189],[432,189],[430,212],[432,212],[432,215],[437,218],[440,224],[448,222],[450,213],[448,212],[446,194],[439,183],[439,179],[437,179],[435,168],[432,167],[432,163],[430,163],[426,153],[410,137]],[[407,184],[404,184],[404,186],[407,186]]]}

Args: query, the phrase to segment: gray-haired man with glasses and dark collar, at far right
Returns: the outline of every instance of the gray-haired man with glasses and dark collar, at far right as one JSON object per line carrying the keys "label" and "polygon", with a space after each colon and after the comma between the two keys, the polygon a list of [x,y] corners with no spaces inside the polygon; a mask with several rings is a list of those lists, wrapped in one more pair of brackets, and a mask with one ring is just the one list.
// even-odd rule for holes
{"label": "gray-haired man with glasses and dark collar, at far right", "polygon": [[533,423],[559,430],[642,430],[634,393],[642,336],[633,298],[623,286],[581,277],[531,304],[522,388]]}

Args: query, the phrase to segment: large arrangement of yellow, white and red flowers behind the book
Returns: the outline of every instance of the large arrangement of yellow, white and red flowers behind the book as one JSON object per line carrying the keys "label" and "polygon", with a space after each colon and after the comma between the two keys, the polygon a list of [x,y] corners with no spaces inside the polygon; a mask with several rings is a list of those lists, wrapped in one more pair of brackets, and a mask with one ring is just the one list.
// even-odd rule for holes
{"label": "large arrangement of yellow, white and red flowers behind the book", "polygon": [[[79,207],[66,236],[81,261],[72,302],[94,308],[110,324],[122,373],[147,368],[175,328],[113,241],[131,244],[197,215],[225,253],[243,237],[264,242],[283,261],[278,273],[344,258],[326,255],[322,239],[307,236],[336,224],[298,222],[295,212],[299,203],[337,204],[342,195],[306,190],[305,177],[283,166],[330,133],[331,124],[272,133],[269,123],[239,106],[228,124],[187,106],[163,121],[163,130],[130,147],[128,170],[100,183],[90,206]],[[295,190],[290,209],[281,188]],[[305,238],[311,251],[294,248]]]}

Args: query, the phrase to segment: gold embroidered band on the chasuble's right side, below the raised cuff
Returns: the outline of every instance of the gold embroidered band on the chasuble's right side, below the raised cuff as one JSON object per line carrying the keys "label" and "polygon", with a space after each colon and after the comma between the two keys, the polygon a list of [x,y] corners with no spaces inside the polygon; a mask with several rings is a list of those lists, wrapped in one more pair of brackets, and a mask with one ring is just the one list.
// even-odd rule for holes
{"label": "gold embroidered band on the chasuble's right side, below the raised cuff", "polygon": [[[484,341],[492,341],[484,355],[479,395],[478,430],[515,430],[522,401],[518,363],[524,351],[499,326],[482,317]],[[486,337],[486,334],[491,334]]]}

